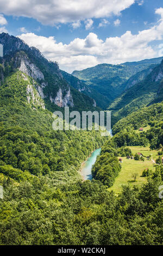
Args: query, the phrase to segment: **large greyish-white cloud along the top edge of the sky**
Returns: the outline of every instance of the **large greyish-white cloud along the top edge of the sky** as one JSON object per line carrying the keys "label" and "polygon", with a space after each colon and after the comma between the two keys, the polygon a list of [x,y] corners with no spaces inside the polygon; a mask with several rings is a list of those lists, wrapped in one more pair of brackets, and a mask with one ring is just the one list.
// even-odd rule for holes
{"label": "large greyish-white cloud along the top edge of the sky", "polygon": [[1,0],[0,10],[5,15],[32,17],[43,25],[76,22],[91,18],[119,15],[136,0]]}

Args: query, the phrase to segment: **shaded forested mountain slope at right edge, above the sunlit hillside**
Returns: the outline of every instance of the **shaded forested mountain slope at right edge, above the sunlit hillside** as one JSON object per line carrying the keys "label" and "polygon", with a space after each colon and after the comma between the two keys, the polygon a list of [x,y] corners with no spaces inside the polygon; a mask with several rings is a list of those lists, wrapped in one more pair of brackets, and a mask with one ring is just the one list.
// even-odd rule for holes
{"label": "shaded forested mountain slope at right edge, above the sunlit hillside", "polygon": [[[149,70],[147,69],[147,73]],[[162,79],[163,60],[145,79],[130,87],[110,105],[112,122],[116,123],[117,120],[126,117],[141,107],[161,102],[163,100]]]}

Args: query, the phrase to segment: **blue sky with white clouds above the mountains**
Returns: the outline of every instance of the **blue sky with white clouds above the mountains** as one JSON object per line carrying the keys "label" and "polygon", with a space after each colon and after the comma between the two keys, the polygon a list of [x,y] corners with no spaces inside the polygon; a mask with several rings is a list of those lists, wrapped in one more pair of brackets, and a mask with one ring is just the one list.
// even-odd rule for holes
{"label": "blue sky with white clouds above the mountains", "polygon": [[163,56],[162,0],[0,0],[0,33],[71,73]]}

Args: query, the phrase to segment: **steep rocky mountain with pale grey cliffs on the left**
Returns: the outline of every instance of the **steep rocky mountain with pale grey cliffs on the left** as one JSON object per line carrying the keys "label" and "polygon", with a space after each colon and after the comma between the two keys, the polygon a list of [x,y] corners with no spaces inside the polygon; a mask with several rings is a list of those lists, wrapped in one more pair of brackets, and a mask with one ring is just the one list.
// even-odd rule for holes
{"label": "steep rocky mountain with pale grey cliffs on the left", "polygon": [[[7,33],[0,34],[0,43],[3,45],[4,57],[1,58],[1,79],[4,75],[19,70],[24,77],[31,77],[33,83],[27,90],[29,94],[36,89],[44,102],[43,108],[55,109],[69,106],[76,110],[91,110],[95,101],[89,96],[78,92],[62,77],[57,62],[49,62],[35,47],[29,47],[21,39]],[[28,92],[27,92],[28,94]]]}

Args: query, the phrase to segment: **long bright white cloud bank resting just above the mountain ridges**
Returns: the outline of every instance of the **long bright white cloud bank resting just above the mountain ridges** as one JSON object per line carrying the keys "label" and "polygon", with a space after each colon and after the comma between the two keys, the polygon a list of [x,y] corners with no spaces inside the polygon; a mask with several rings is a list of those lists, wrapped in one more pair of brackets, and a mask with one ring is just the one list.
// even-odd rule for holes
{"label": "long bright white cloud bank resting just above the mountain ridges", "polygon": [[[154,40],[163,39],[163,8],[155,11],[161,19],[150,29],[137,34],[127,31],[122,36],[108,37],[105,41],[95,33],[89,33],[85,39],[76,38],[70,44],[57,42],[54,36],[38,36],[34,33],[22,34],[19,37],[30,46],[35,46],[51,60],[56,60],[60,68],[68,72],[81,70],[99,63],[123,63],[145,58],[158,57],[149,45]],[[160,49],[159,49],[160,50]]]}

